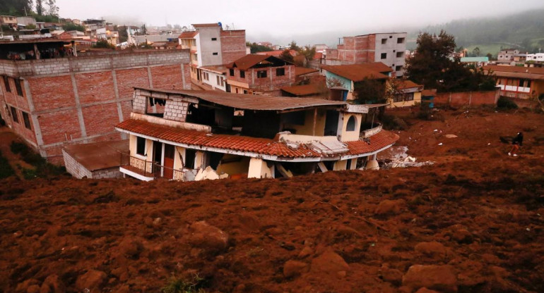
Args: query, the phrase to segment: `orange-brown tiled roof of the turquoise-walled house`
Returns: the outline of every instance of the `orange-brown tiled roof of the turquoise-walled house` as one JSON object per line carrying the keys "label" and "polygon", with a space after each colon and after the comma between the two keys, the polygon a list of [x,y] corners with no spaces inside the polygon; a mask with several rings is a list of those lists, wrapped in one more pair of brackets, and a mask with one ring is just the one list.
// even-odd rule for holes
{"label": "orange-brown tiled roof of the turquoise-walled house", "polygon": [[384,75],[383,73],[393,71],[389,66],[386,66],[382,62],[338,66],[322,65],[321,69],[327,70],[330,73],[334,73],[338,76],[345,77],[348,80],[353,80],[354,82],[360,82],[365,78],[384,80],[389,78],[389,76]]}

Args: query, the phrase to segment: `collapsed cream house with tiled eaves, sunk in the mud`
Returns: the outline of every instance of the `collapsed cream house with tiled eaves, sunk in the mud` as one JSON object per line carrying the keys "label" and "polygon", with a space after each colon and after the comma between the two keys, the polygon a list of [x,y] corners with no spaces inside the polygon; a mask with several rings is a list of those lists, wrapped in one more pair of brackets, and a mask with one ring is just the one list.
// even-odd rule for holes
{"label": "collapsed cream house with tiled eaves, sunk in the mud", "polygon": [[377,166],[376,154],[398,140],[367,115],[380,106],[136,88],[130,119],[115,127],[129,135],[119,170],[139,180],[191,181]]}

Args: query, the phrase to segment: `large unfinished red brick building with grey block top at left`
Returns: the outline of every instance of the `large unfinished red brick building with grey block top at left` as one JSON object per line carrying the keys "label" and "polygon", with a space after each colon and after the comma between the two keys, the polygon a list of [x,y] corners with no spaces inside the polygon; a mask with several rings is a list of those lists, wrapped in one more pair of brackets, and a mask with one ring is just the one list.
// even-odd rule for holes
{"label": "large unfinished red brick building with grey block top at left", "polygon": [[[8,127],[54,163],[63,146],[122,139],[114,125],[129,118],[134,87],[189,89],[189,50],[109,51],[37,60],[30,51],[64,40],[0,42],[25,60],[0,60],[0,114]],[[33,58],[32,58],[33,55]]]}

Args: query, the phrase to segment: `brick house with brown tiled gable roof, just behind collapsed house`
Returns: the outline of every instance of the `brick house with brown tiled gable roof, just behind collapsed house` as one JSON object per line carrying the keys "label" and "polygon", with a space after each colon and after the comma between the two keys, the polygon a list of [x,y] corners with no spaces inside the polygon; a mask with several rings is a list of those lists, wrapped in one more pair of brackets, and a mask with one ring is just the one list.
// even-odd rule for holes
{"label": "brick house with brown tiled gable roof, just behind collapsed house", "polygon": [[295,83],[295,66],[274,56],[249,54],[227,64],[227,92],[281,95]]}

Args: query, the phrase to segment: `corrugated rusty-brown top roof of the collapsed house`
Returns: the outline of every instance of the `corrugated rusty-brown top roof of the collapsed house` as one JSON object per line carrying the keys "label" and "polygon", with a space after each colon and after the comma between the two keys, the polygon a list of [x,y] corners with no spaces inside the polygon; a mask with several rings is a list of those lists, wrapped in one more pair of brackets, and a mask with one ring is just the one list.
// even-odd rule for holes
{"label": "corrugated rusty-brown top roof of the collapsed house", "polygon": [[313,108],[319,106],[338,106],[342,108],[347,103],[343,101],[328,101],[323,99],[291,98],[288,96],[259,96],[254,94],[232,94],[215,91],[194,91],[175,89],[143,89],[149,92],[162,92],[168,94],[182,94],[196,99],[208,101],[222,106],[260,111],[285,111],[297,108]]}

